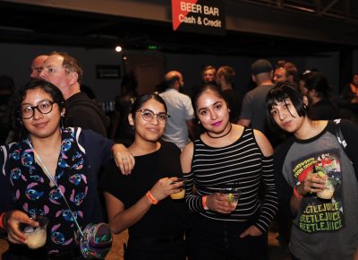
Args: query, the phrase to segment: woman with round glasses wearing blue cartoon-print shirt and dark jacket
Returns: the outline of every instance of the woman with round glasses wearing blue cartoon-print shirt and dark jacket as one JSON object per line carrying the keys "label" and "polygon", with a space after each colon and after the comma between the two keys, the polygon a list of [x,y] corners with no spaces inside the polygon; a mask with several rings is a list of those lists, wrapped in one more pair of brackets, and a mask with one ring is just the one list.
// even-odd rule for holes
{"label": "woman with round glasses wearing blue cartoon-print shirt and dark jacket", "polygon": [[[0,230],[9,241],[3,259],[80,259],[73,220],[82,230],[102,221],[98,171],[111,150],[119,160],[132,155],[91,130],[62,128],[64,97],[50,82],[21,88],[13,108],[20,141],[0,149]],[[47,242],[29,249],[21,223],[38,227],[38,215],[49,220]]]}

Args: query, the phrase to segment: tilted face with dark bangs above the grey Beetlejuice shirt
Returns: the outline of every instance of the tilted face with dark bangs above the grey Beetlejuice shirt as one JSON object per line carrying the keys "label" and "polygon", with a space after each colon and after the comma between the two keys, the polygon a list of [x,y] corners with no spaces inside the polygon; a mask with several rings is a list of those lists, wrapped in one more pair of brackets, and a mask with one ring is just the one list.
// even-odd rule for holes
{"label": "tilted face with dark bangs above the grey Beetlejuice shirt", "polygon": [[288,133],[297,132],[303,125],[304,117],[298,115],[290,99],[277,102],[277,104],[271,108],[270,113],[277,126]]}

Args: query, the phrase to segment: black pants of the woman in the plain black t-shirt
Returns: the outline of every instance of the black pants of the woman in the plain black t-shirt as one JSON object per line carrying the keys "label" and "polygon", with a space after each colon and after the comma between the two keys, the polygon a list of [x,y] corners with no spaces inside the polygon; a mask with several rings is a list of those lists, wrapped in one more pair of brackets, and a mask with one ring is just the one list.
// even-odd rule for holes
{"label": "black pants of the woman in the plain black t-shirt", "polygon": [[183,234],[160,238],[131,238],[124,247],[124,260],[185,260]]}

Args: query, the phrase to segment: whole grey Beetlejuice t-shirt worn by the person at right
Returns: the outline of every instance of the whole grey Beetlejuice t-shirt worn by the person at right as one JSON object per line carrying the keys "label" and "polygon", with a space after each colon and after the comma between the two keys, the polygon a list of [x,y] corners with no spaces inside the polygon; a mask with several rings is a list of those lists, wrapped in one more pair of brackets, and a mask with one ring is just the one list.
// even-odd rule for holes
{"label": "whole grey Beetlejuice t-shirt worn by the person at right", "polygon": [[299,259],[352,259],[358,245],[358,182],[351,161],[329,129],[308,140],[294,140],[285,150],[277,149],[286,155],[277,163],[292,188],[311,173],[338,183],[331,199],[315,193],[303,196],[290,240],[290,250]]}

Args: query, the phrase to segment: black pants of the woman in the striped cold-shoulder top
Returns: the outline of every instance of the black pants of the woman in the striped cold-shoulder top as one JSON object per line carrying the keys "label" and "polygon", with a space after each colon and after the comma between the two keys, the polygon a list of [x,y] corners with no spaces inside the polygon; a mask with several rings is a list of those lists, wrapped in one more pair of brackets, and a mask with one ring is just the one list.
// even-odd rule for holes
{"label": "black pants of the woman in the striped cold-shoulder top", "polygon": [[198,216],[186,234],[190,260],[266,260],[268,237],[240,238],[253,221],[211,221]]}

